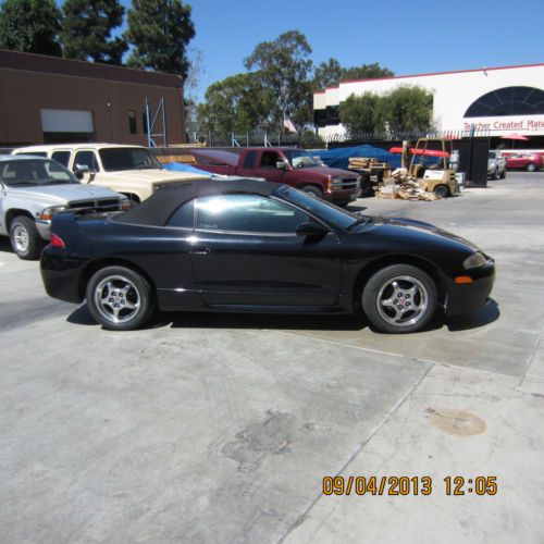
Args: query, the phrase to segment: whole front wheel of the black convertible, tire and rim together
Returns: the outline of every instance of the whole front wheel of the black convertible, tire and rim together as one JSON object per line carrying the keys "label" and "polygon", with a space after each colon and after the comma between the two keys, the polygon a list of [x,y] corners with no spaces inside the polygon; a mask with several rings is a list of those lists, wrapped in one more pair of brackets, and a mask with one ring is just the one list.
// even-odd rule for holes
{"label": "whole front wheel of the black convertible, tire and rim together", "polygon": [[[410,286],[416,290],[410,290]],[[392,334],[420,331],[434,316],[437,300],[434,281],[411,264],[392,264],[379,270],[367,282],[361,296],[370,324]]]}

